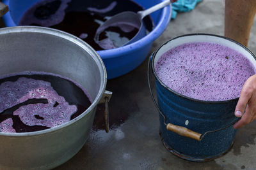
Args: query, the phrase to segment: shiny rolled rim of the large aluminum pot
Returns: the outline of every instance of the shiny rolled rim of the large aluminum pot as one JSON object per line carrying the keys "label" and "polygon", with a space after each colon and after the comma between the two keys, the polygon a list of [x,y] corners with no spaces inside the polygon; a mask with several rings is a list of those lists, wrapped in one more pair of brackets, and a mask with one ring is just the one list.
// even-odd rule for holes
{"label": "shiny rolled rim of the large aluminum pot", "polygon": [[[51,127],[49,129],[45,129],[42,131],[34,131],[34,132],[0,132],[0,136],[8,136],[8,137],[28,137],[28,136],[38,136],[42,134],[47,134],[49,132],[55,132],[58,130],[61,130],[63,127],[67,127],[69,125],[74,124],[75,122],[81,120],[81,118],[86,117],[89,113],[95,109],[97,104],[99,103],[100,99],[102,98],[105,90],[106,90],[106,84],[107,84],[107,71],[106,67],[104,66],[104,62],[102,61],[100,55],[92,48],[92,46],[88,45],[88,43],[84,42],[82,39],[77,38],[76,36],[69,34],[68,32],[60,31],[58,29],[52,29],[48,27],[40,27],[40,26],[17,26],[17,27],[3,27],[0,28],[0,35],[1,34],[19,34],[19,33],[24,33],[24,32],[33,32],[33,33],[40,33],[40,34],[47,34],[51,36],[56,36],[58,38],[63,38],[67,41],[70,41],[70,43],[75,43],[77,46],[80,48],[83,48],[86,52],[95,55],[93,58],[94,61],[97,63],[99,66],[100,71],[100,87],[99,87],[99,92],[95,99],[93,100],[93,103],[87,108],[81,115],[78,117],[64,123],[61,125],[58,125],[56,127]],[[62,75],[61,75],[62,76]]]}

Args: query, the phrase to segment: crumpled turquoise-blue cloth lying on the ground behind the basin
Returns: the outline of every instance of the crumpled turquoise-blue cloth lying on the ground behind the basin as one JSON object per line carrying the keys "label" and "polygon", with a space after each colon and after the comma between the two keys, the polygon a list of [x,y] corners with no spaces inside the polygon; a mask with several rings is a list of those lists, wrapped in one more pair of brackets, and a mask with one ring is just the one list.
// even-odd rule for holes
{"label": "crumpled turquoise-blue cloth lying on the ground behind the basin", "polygon": [[187,12],[195,8],[202,0],[178,0],[172,3],[172,19],[176,18],[178,12]]}

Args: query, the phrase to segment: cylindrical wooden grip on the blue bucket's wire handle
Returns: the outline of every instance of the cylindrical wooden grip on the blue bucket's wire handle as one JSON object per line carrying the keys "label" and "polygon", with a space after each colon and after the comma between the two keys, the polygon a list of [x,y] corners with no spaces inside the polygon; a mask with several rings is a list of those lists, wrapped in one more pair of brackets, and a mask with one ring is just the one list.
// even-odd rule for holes
{"label": "cylindrical wooden grip on the blue bucket's wire handle", "polygon": [[166,125],[166,129],[168,131],[175,132],[180,136],[185,136],[188,138],[196,139],[197,141],[201,141],[202,134],[198,132],[191,131],[190,129],[178,125],[168,124]]}

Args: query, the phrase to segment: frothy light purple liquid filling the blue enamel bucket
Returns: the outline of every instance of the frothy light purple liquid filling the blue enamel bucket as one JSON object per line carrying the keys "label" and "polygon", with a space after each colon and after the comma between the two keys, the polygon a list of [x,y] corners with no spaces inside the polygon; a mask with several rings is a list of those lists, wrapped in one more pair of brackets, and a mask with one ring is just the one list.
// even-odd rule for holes
{"label": "frothy light purple liquid filling the blue enamel bucket", "polygon": [[157,76],[170,89],[203,101],[239,97],[244,82],[256,73],[253,64],[236,50],[216,43],[186,43],[164,53]]}

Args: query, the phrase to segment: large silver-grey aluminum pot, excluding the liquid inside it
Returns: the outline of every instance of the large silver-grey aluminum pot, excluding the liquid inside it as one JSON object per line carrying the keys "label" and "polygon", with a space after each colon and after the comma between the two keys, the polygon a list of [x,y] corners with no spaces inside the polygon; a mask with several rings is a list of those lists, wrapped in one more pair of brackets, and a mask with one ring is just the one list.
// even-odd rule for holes
{"label": "large silver-grey aluminum pot, excluding the liquid inside it", "polygon": [[106,88],[99,55],[79,38],[44,27],[0,29],[0,75],[45,71],[66,76],[86,89],[92,105],[79,117],[44,131],[0,132],[0,169],[51,169],[74,156],[92,128]]}

